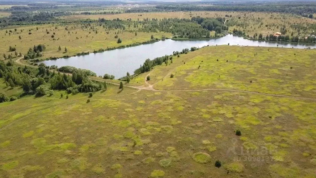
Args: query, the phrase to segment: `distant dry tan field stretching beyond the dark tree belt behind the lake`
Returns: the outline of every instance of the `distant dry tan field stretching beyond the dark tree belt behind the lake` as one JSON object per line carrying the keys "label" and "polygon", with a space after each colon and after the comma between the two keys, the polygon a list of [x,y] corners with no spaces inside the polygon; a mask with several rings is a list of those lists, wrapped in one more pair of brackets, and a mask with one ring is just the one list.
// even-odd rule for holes
{"label": "distant dry tan field stretching beyond the dark tree belt behind the lake", "polygon": [[[140,16],[141,15],[141,16]],[[265,12],[225,12],[225,11],[192,11],[192,12],[152,12],[152,13],[122,13],[122,14],[107,14],[107,15],[70,15],[61,17],[67,20],[75,19],[99,19],[105,18],[107,20],[123,19],[127,20],[131,18],[133,21],[143,19],[162,19],[162,18],[191,18],[196,16],[201,17],[225,17],[225,15],[231,15],[229,20],[236,21],[236,25],[229,27],[230,31],[234,28],[238,30],[245,30],[247,35],[252,36],[254,33],[262,33],[264,36],[267,34],[273,34],[281,32],[281,28],[287,29],[286,35],[298,34],[295,25],[301,26],[304,29],[306,26],[311,26],[307,30],[301,30],[300,34],[310,34],[315,31],[313,24],[316,24],[315,19],[304,18],[299,15],[292,15],[286,13],[265,13]],[[240,19],[238,19],[240,17]],[[226,17],[226,19],[228,19]],[[268,25],[268,27],[265,27]]]}

